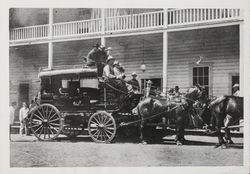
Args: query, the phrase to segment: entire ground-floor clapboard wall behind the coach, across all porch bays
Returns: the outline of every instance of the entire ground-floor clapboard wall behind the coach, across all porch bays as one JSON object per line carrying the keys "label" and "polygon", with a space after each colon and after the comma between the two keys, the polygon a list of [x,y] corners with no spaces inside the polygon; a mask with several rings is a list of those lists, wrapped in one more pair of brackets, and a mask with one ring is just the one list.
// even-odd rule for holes
{"label": "entire ground-floor clapboard wall behind the coach, across all porch bays", "polygon": [[[96,43],[100,43],[100,39],[55,43],[53,63],[55,66],[79,65],[82,56],[86,56]],[[139,79],[162,78],[162,44],[162,34],[106,39],[106,46],[113,48],[112,55],[125,66],[127,79],[133,71]],[[186,90],[190,87],[191,67],[198,56],[204,57],[202,65],[212,67],[211,94],[230,94],[229,74],[239,73],[239,27],[168,33],[168,88],[178,85],[181,90]],[[147,66],[144,73],[140,69],[143,58]],[[30,99],[36,95],[38,70],[47,63],[47,44],[10,48],[10,101],[17,101],[18,85],[22,81],[30,84]]]}

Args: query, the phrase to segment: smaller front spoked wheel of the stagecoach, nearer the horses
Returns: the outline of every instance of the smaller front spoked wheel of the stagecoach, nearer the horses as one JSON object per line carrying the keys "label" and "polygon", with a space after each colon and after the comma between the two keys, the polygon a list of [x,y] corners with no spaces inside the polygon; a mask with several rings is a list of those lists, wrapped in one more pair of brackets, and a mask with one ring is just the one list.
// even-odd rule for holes
{"label": "smaller front spoked wheel of the stagecoach, nearer the horses", "polygon": [[107,143],[113,140],[116,133],[116,123],[112,115],[100,111],[93,114],[88,122],[90,137],[99,143]]}

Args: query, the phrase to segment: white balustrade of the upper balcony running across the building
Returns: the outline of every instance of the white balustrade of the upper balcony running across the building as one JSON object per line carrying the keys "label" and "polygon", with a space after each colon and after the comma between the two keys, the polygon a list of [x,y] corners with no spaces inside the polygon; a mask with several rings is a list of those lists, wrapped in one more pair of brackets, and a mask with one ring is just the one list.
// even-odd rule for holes
{"label": "white balustrade of the upper balcony running across the building", "polygon": [[[166,13],[166,14],[165,14]],[[165,20],[164,18],[167,18]],[[183,28],[243,20],[240,9],[172,9],[154,12],[119,15],[89,20],[54,23],[49,37],[49,24],[10,29],[10,44],[41,40],[108,35]]]}

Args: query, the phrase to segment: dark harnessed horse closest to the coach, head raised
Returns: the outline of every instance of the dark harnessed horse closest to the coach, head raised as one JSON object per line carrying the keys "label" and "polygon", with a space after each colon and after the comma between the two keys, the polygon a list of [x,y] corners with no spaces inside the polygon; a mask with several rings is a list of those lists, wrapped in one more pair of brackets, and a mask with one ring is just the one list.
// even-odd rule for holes
{"label": "dark harnessed horse closest to the coach, head raised", "polygon": [[[200,85],[195,85],[190,88],[184,95],[181,103],[167,103],[148,97],[143,99],[136,107],[137,113],[141,118],[140,122],[140,141],[147,144],[146,126],[148,123],[159,123],[164,116],[168,119],[174,119],[176,124],[177,145],[182,145],[185,141],[184,129],[186,128],[188,115],[193,109],[193,104],[196,100],[201,100],[201,97],[206,95],[206,91]],[[153,127],[155,129],[155,127]],[[152,129],[151,129],[152,131]]]}

